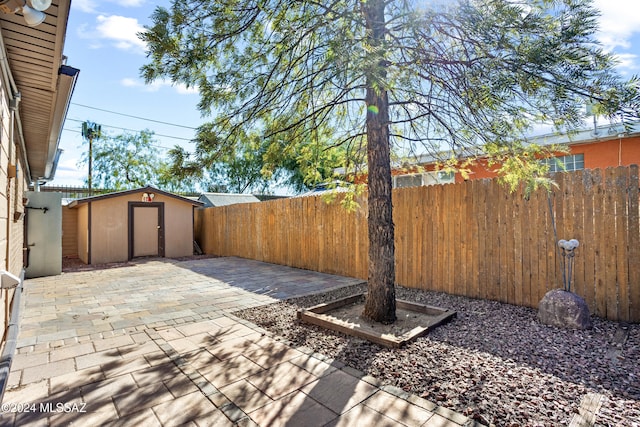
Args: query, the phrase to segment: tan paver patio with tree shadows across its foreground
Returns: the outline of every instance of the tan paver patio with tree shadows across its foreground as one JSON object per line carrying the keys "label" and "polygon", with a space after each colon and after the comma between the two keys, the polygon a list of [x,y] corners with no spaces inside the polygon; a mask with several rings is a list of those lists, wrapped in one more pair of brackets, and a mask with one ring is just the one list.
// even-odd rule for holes
{"label": "tan paver patio with tree shadows across its foreground", "polygon": [[231,314],[355,283],[239,258],[27,280],[0,424],[474,424]]}

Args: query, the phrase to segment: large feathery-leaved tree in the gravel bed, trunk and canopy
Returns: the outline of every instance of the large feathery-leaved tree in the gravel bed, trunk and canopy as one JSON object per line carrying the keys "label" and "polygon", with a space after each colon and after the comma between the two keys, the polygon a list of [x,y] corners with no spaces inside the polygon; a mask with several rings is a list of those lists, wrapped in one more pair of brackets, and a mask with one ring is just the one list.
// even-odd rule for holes
{"label": "large feathery-leaved tree in the gravel bed, trunk and canopy", "polygon": [[503,172],[526,177],[532,124],[571,131],[586,100],[617,109],[622,83],[593,38],[596,17],[588,0],[174,0],[140,34],[142,74],[198,87],[218,149],[259,132],[283,152],[318,127],[345,152],[366,146],[363,315],[392,322],[392,148],[447,152],[455,166],[489,147],[520,155]]}

